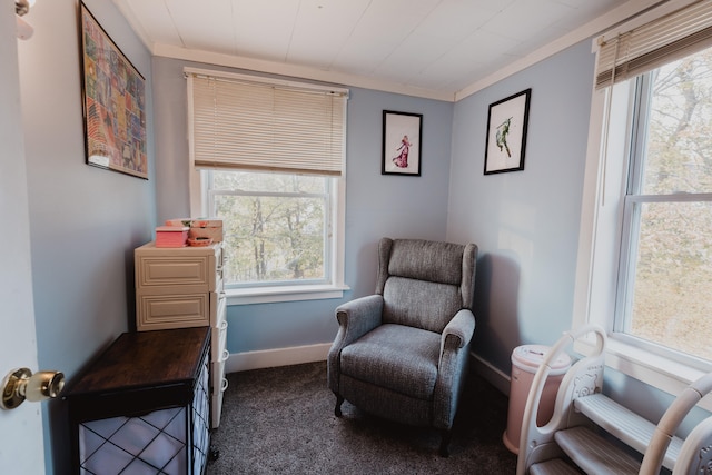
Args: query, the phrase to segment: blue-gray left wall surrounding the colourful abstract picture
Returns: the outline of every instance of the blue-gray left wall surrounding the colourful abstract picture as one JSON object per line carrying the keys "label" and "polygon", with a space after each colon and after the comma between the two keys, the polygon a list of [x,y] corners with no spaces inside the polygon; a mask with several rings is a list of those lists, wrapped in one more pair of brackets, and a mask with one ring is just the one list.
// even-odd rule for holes
{"label": "blue-gray left wall surrounding the colourful abstract picture", "polygon": [[[150,55],[113,2],[86,4],[147,79],[154,164]],[[155,171],[147,181],[85,162],[77,0],[40,1],[26,19],[34,36],[18,52],[38,359],[71,380],[134,318],[132,253],[156,221]],[[43,403],[48,474],[66,469],[62,404]]]}

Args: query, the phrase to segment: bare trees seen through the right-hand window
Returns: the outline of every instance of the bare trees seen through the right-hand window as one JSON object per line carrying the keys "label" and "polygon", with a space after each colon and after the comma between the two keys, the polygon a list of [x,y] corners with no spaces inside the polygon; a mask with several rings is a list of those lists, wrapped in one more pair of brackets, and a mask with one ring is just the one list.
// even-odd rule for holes
{"label": "bare trees seen through the right-hand window", "polygon": [[[712,49],[650,73],[624,331],[712,359]],[[636,236],[635,236],[636,234]]]}

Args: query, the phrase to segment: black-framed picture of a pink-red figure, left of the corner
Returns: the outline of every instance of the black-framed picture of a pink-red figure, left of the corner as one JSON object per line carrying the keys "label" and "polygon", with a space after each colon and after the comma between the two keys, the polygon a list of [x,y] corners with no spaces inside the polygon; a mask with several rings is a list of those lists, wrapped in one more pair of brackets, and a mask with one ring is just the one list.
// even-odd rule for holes
{"label": "black-framed picture of a pink-red figure, left of the corner", "polygon": [[383,111],[382,175],[421,176],[423,115]]}

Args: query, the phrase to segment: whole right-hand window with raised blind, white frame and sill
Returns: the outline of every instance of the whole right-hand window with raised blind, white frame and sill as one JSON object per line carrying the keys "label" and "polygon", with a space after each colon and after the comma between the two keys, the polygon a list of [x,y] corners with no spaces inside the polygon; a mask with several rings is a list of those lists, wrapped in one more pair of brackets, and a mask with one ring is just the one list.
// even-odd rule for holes
{"label": "whole right-hand window with raised blind, white frame and sill", "polygon": [[593,48],[572,326],[606,328],[606,365],[678,395],[712,370],[712,0],[660,2]]}

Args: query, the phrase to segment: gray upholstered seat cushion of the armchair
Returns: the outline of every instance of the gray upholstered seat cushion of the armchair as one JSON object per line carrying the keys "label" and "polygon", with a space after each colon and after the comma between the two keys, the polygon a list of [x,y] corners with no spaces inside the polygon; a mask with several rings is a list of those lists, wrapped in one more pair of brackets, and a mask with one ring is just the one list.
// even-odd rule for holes
{"label": "gray upholstered seat cushion of the armchair", "polygon": [[364,383],[429,400],[437,379],[439,350],[439,334],[385,324],[342,350],[340,372]]}

